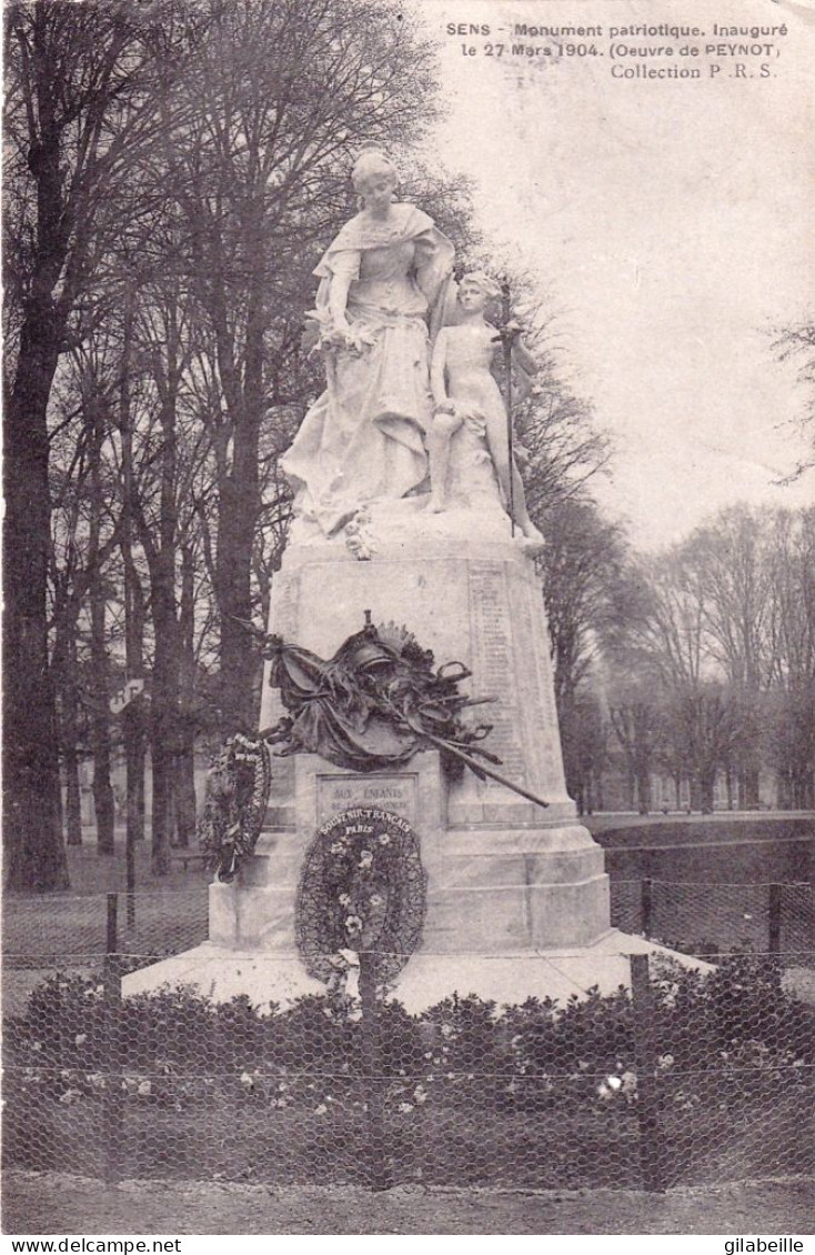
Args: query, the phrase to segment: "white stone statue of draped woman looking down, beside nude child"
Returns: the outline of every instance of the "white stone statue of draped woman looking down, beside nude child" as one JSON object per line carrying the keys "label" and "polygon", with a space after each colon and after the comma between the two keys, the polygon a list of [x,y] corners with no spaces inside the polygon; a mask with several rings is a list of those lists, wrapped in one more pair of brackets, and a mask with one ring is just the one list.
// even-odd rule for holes
{"label": "white stone statue of draped woman looking down, beside nude child", "polygon": [[327,388],[282,467],[295,513],[323,536],[426,476],[429,335],[441,321],[453,245],[421,210],[395,202],[397,181],[382,152],[362,152],[352,172],[361,212],[315,271],[321,282],[311,318]]}

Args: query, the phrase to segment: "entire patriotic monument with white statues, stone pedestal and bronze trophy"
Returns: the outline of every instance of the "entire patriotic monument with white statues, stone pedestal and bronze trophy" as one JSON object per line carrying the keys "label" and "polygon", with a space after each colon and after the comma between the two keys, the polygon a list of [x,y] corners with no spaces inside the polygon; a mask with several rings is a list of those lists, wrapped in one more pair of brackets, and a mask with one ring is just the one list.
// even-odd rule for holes
{"label": "entire patriotic monument with white statues, stone pedestal and bronze trophy", "polygon": [[[303,920],[331,851],[356,860],[356,887],[335,895],[346,914],[322,958],[350,979],[397,911],[385,872],[367,915],[354,905],[391,838],[424,877],[399,897],[391,943],[405,953],[387,990],[408,1009],[456,990],[499,1003],[612,991],[628,980],[623,956],[655,948],[611,927],[603,852],[565,791],[542,537],[490,373],[499,344],[508,379],[534,361],[514,323],[485,320],[486,275],[456,290],[453,246],[395,201],[387,156],[364,152],[352,178],[362,207],[316,270],[326,390],[283,459],[295,520],[261,729],[288,753],[271,758],[253,852],[211,886],[208,943],[128,976],[125,993],[166,980],[258,1004],[325,991],[303,949],[323,907]],[[469,710],[481,699],[488,734]]]}

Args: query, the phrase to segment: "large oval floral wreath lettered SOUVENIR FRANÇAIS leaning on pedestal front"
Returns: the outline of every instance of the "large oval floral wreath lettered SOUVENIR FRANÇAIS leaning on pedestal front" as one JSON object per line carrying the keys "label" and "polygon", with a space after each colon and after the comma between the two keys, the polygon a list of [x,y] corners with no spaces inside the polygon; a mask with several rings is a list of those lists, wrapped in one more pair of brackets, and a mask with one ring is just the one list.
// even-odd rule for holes
{"label": "large oval floral wreath lettered SOUVENIR FRAN\u00c7AIS leaning on pedestal front", "polygon": [[419,944],[426,877],[419,841],[397,814],[344,811],[316,833],[297,892],[297,945],[312,976],[329,985],[349,955],[365,955],[379,986]]}

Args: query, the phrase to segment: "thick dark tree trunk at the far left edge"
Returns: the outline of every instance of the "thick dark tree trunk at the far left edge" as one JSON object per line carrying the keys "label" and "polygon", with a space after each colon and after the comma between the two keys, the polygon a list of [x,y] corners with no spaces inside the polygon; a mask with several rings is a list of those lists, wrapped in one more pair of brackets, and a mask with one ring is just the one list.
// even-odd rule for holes
{"label": "thick dark tree trunk at the far left edge", "polygon": [[[48,44],[48,8],[35,9],[35,56]],[[14,384],[5,398],[4,828],[10,889],[68,886],[60,820],[56,702],[48,665],[50,483],[48,403],[66,320],[54,300],[70,236],[56,93],[44,59],[30,84],[29,168],[36,233]],[[34,103],[35,99],[35,103]]]}

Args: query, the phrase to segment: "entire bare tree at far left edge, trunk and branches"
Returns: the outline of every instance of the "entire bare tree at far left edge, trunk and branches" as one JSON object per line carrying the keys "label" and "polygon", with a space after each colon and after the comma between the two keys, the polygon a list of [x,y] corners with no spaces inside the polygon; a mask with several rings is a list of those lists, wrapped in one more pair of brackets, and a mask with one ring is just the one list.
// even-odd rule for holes
{"label": "entire bare tree at far left edge, trunk and branches", "polygon": [[66,884],[46,628],[49,399],[128,172],[155,137],[148,69],[173,39],[169,14],[169,5],[143,19],[129,5],[66,0],[6,9],[4,552],[15,665],[5,685],[5,798],[16,889]]}

